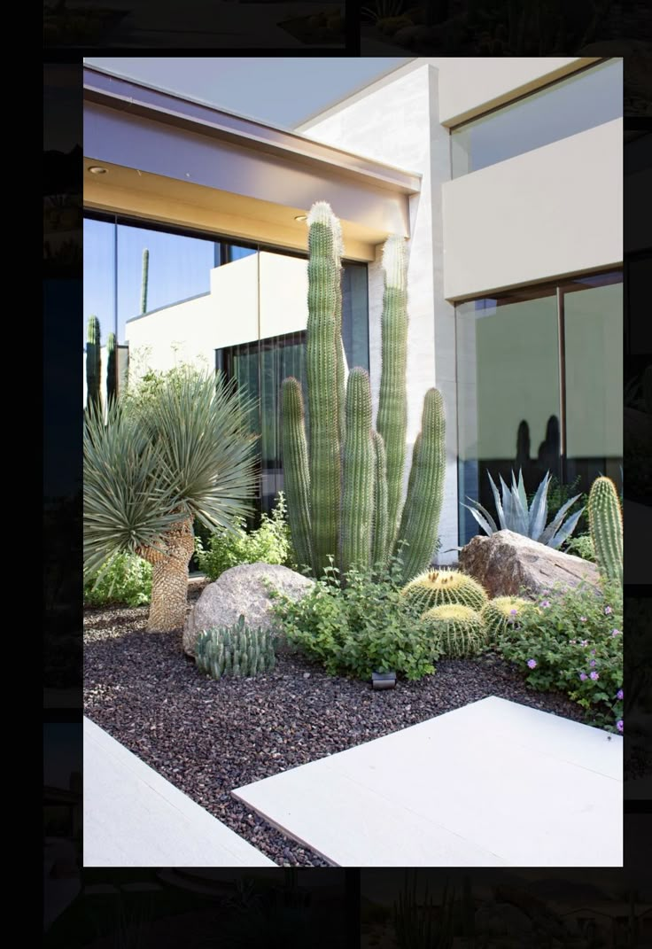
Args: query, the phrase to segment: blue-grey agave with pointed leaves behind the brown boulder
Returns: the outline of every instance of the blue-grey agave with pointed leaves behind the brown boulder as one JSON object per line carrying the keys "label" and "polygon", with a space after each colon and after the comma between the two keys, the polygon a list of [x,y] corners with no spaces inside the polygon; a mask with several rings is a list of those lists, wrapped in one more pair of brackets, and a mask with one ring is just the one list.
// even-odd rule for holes
{"label": "blue-grey agave with pointed leaves behind the brown boulder", "polygon": [[518,482],[516,482],[516,478],[512,472],[512,489],[507,487],[502,477],[500,478],[502,500],[491,474],[489,474],[489,480],[491,481],[492,491],[494,492],[495,510],[498,514],[500,527],[496,527],[491,514],[473,498],[467,497],[467,500],[471,501],[471,504],[465,504],[463,507],[467,508],[474,515],[475,520],[482,530],[490,536],[497,530],[513,530],[514,533],[523,534],[524,537],[531,537],[532,540],[536,540],[540,544],[545,544],[546,547],[557,549],[568,539],[573,530],[575,530],[575,525],[584,512],[584,508],[580,508],[578,512],[568,517],[568,520],[564,523],[566,512],[568,512],[568,509],[571,508],[578,497],[580,497],[579,494],[575,494],[566,504],[562,505],[554,518],[550,521],[548,527],[546,527],[546,521],[548,520],[550,472],[546,473],[543,481],[537,488],[532,498],[530,508],[528,508],[528,498],[523,484],[523,473],[520,470],[518,472]]}

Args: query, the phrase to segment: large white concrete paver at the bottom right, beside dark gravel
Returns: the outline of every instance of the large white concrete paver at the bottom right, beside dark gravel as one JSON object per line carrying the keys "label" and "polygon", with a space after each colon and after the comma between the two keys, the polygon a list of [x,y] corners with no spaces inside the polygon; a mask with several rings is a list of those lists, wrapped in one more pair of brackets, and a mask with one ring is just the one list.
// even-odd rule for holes
{"label": "large white concrete paver at the bottom right, beside dark gravel", "polygon": [[233,795],[339,866],[622,866],[622,760],[492,697]]}

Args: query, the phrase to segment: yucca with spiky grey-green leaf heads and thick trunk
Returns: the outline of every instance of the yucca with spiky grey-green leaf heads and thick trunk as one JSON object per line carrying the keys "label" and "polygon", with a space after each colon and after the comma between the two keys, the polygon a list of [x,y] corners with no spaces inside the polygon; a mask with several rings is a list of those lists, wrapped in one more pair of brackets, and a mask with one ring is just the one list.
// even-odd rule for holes
{"label": "yucca with spiky grey-green leaf heads and thick trunk", "polygon": [[148,629],[183,625],[193,519],[231,530],[255,487],[251,400],[223,375],[183,368],[146,400],[116,400],[84,423],[84,575],[116,553],[152,564]]}

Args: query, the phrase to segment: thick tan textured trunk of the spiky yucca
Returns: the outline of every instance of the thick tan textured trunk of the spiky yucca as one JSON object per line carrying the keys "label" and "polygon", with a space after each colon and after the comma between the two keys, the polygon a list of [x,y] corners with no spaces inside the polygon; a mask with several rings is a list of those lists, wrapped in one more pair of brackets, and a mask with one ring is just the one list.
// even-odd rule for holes
{"label": "thick tan textured trunk of the spiky yucca", "polygon": [[149,632],[169,633],[185,623],[188,604],[188,564],[195,549],[193,522],[182,521],[177,530],[169,530],[161,539],[162,549],[139,550],[139,556],[152,565],[152,602],[149,607]]}

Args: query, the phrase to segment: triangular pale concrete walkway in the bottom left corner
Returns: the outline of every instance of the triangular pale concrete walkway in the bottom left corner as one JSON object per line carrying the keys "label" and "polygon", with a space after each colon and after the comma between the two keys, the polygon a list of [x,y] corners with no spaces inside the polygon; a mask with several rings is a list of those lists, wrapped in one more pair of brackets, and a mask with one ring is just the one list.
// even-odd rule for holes
{"label": "triangular pale concrete walkway in the bottom left corner", "polygon": [[84,717],[84,866],[275,866]]}

